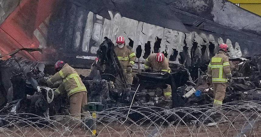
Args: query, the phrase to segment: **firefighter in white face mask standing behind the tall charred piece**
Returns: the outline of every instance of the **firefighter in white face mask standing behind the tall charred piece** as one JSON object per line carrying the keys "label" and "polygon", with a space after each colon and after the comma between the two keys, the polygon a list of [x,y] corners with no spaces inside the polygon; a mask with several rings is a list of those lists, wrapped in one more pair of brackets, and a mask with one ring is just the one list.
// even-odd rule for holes
{"label": "firefighter in white face mask standing behind the tall charred piece", "polygon": [[[116,39],[116,44],[114,51],[120,61],[120,65],[124,69],[124,77],[126,79],[127,85],[131,86],[133,81],[133,75],[131,74],[132,66],[135,63],[136,55],[133,52],[133,49],[125,44],[125,39],[123,36],[119,36]],[[120,82],[116,80],[118,85],[121,85]]]}

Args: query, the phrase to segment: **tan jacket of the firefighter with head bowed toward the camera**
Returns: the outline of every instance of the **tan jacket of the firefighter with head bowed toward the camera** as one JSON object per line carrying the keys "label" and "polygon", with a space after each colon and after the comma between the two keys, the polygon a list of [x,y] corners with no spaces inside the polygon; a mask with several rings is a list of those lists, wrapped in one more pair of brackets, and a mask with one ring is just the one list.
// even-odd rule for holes
{"label": "tan jacket of the firefighter with head bowed toward the camera", "polygon": [[144,63],[144,68],[149,69],[152,68],[153,72],[163,71],[170,73],[169,68],[169,60],[168,58],[164,58],[164,61],[162,63],[158,63],[155,59],[157,53],[152,53],[148,56]]}

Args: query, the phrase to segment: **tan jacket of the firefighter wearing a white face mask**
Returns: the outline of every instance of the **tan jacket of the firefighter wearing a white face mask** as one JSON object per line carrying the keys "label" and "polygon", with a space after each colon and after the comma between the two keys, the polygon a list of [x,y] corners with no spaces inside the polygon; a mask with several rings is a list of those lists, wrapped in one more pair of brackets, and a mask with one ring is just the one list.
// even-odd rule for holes
{"label": "tan jacket of the firefighter wearing a white face mask", "polygon": [[132,68],[136,60],[136,55],[130,46],[124,45],[123,48],[119,48],[116,45],[114,46],[114,51],[124,70],[126,70],[128,66]]}

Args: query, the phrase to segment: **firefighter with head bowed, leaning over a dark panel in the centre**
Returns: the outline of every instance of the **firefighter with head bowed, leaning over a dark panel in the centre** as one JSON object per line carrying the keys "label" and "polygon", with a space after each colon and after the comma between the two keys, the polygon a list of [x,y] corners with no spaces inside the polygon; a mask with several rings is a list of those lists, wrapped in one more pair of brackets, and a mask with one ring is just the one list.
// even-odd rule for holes
{"label": "firefighter with head bowed, leaning over a dark panel in the centre", "polygon": [[[171,69],[169,68],[168,58],[165,58],[163,53],[152,53],[148,56],[144,63],[145,72],[148,72],[152,69],[152,72],[168,72],[170,73]],[[167,87],[163,89],[164,96],[167,100],[171,100],[171,86],[166,84]]]}

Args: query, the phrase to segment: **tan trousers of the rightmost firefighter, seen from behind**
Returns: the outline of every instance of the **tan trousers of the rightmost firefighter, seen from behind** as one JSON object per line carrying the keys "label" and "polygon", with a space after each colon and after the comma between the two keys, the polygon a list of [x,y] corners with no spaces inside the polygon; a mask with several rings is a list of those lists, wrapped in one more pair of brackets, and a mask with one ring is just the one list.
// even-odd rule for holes
{"label": "tan trousers of the rightmost firefighter, seen from behind", "polygon": [[214,104],[222,104],[225,98],[227,84],[225,83],[213,83],[214,89]]}

